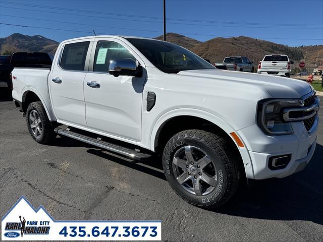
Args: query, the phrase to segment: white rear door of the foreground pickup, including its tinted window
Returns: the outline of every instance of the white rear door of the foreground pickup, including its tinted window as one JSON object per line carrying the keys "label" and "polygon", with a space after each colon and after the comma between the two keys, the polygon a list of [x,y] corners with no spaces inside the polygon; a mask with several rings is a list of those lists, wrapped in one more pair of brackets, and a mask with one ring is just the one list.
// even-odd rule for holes
{"label": "white rear door of the foreground pickup, including its tinted window", "polygon": [[49,76],[52,108],[58,122],[86,127],[83,81],[93,39],[73,41],[61,48]]}

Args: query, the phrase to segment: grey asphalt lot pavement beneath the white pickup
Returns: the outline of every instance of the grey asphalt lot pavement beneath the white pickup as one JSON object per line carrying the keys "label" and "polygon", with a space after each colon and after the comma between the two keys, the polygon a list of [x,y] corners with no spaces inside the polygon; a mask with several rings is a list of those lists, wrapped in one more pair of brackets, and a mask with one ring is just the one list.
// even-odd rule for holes
{"label": "grey asphalt lot pavement beneath the white pickup", "polygon": [[305,170],[203,210],[172,191],[158,158],[136,163],[69,138],[37,144],[14,104],[0,101],[0,217],[24,195],[56,220],[161,220],[164,241],[323,241],[322,171],[321,121]]}

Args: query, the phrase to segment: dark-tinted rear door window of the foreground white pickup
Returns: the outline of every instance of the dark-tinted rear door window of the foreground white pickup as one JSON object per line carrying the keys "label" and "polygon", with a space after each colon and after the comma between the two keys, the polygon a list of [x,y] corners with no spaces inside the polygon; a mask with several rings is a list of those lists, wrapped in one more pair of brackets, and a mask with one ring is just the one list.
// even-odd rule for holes
{"label": "dark-tinted rear door window of the foreground white pickup", "polygon": [[84,71],[89,44],[90,41],[66,44],[61,58],[61,68],[72,71]]}

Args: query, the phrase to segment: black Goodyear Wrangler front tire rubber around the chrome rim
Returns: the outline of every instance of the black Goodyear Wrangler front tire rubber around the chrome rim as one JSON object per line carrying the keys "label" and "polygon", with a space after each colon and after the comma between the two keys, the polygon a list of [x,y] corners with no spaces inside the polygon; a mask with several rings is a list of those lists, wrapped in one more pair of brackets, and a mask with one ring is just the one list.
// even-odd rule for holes
{"label": "black Goodyear Wrangler front tire rubber around the chrome rim", "polygon": [[[209,164],[216,167],[216,169],[214,169],[216,172],[214,173],[217,174],[214,175],[214,177],[218,177],[217,184],[211,186],[210,188],[213,188],[213,190],[206,195],[192,194],[187,191],[187,189],[183,188],[177,180],[175,174],[177,168],[174,170],[173,165],[174,155],[177,155],[178,152],[183,150],[183,147],[188,146],[195,147],[197,150],[203,150],[212,162],[212,164]],[[195,206],[211,209],[220,207],[226,203],[238,189],[240,171],[238,159],[237,157],[234,157],[233,154],[234,152],[230,151],[225,139],[222,137],[202,130],[185,130],[174,135],[166,144],[163,153],[163,168],[170,186],[182,199]],[[185,157],[183,159],[188,160]],[[192,163],[194,162],[191,162],[191,164]],[[190,166],[190,164],[187,165],[187,168],[188,166]],[[190,169],[187,169],[187,171],[189,170]],[[191,178],[194,180],[195,176]],[[199,180],[199,182],[202,183],[201,180]]]}

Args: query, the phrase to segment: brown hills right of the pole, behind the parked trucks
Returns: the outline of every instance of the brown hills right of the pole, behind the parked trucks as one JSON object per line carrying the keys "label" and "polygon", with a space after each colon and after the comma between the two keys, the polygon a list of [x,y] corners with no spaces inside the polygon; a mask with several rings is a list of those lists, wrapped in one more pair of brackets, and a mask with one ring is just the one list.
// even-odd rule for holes
{"label": "brown hills right of the pole, behind the parked trucks", "polygon": [[[292,69],[297,69],[298,64],[302,61],[306,63],[306,67],[311,68],[311,71],[314,67],[323,65],[323,45],[287,47],[283,44],[245,36],[218,37],[205,42],[174,33],[168,33],[166,38],[169,42],[181,45],[202,58],[209,59],[211,63],[222,62],[226,56],[230,55],[248,56],[257,68],[258,62],[265,54],[288,54],[289,58],[295,62]],[[163,36],[159,36],[157,39],[162,40]]]}

